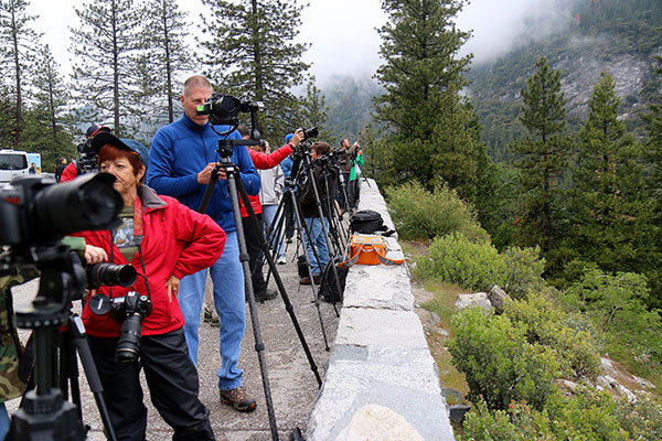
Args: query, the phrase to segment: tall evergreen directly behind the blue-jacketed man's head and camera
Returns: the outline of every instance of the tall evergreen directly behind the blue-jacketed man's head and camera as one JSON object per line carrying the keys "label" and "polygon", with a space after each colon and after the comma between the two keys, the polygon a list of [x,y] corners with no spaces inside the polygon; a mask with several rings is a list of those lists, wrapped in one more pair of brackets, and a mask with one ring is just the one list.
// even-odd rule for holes
{"label": "tall evergreen directly behind the blue-jacketed man's head and camera", "polygon": [[300,126],[298,103],[290,92],[301,85],[309,65],[301,61],[307,45],[293,43],[299,34],[301,9],[297,1],[203,0],[211,18],[203,17],[205,74],[222,93],[263,101],[259,130],[280,138]]}

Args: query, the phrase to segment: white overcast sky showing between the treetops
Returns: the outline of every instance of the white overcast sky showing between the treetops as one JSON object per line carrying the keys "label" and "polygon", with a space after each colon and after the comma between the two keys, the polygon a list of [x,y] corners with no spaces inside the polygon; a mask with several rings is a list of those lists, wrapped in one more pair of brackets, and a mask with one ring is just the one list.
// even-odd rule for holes
{"label": "white overcast sky showing between the treetops", "polygon": [[[190,11],[189,20],[197,21],[202,3],[178,1],[181,9]],[[564,1],[569,0],[473,0],[457,19],[459,29],[473,31],[462,53],[472,52],[474,63],[493,60],[521,40],[526,22],[558,19],[559,14],[553,12],[558,10],[554,4]],[[71,72],[67,26],[79,25],[74,6],[83,3],[83,0],[32,0],[29,9],[30,13],[40,15],[34,28],[44,33],[42,41],[51,46],[66,73]],[[303,60],[313,64],[311,72],[318,80],[323,83],[331,76],[344,74],[374,74],[380,65],[380,36],[375,28],[386,22],[381,1],[309,0],[309,3],[301,17],[300,40],[312,44]],[[554,25],[558,21],[540,22]],[[544,33],[542,28],[541,31]],[[191,26],[191,32],[194,34],[195,28]]]}

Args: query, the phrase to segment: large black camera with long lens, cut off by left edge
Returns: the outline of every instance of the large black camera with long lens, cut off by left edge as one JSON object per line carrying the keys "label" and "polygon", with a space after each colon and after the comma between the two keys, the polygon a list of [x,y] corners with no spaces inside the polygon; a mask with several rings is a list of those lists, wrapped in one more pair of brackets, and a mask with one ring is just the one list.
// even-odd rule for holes
{"label": "large black camera with long lens, cut off by left edge", "polygon": [[49,178],[22,178],[0,186],[0,245],[115,227],[124,203],[113,182],[111,174],[95,173],[57,185]]}

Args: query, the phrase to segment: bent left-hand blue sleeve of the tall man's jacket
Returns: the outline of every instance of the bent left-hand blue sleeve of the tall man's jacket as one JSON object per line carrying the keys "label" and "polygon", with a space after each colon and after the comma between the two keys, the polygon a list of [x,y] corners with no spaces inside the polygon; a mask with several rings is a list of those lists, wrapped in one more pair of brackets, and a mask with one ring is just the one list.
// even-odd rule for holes
{"label": "bent left-hand blue sleeve of the tall man's jacket", "polygon": [[174,161],[173,142],[163,130],[159,130],[149,151],[147,185],[154,189],[158,194],[172,197],[181,197],[195,192],[200,187],[197,175],[173,178]]}

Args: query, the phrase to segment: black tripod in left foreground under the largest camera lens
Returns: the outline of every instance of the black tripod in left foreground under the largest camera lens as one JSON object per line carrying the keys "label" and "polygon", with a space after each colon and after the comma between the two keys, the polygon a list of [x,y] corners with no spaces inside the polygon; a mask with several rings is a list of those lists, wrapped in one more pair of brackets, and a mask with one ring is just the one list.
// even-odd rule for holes
{"label": "black tripod in left foreground under the largest camera lens", "polygon": [[[85,340],[85,329],[81,318],[71,314],[71,299],[82,294],[85,281],[78,257],[68,251],[68,247],[58,245],[34,251],[40,252],[41,280],[39,293],[32,308],[17,312],[20,327],[34,330],[36,387],[25,392],[20,409],[14,413],[9,432],[10,440],[84,440],[86,430],[82,421],[81,395],[77,386],[76,349],[94,392],[106,434],[116,440],[108,409],[103,397],[103,387],[92,358],[92,352]],[[44,263],[45,261],[45,263]],[[79,298],[79,297],[78,297]],[[61,326],[67,331],[63,336],[60,367],[54,342]],[[67,392],[54,385],[58,372],[66,372],[62,379],[72,379],[72,392],[75,404],[65,400]],[[75,379],[75,387],[73,386]],[[62,385],[63,381],[61,381]],[[64,381],[64,385],[66,383]],[[63,397],[64,395],[64,397]]]}

